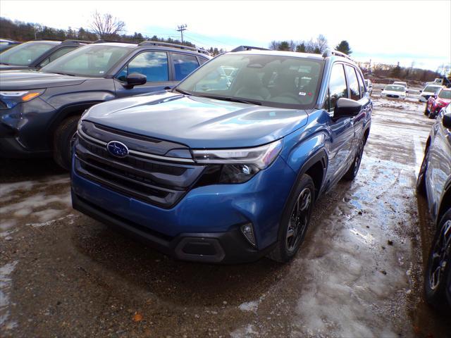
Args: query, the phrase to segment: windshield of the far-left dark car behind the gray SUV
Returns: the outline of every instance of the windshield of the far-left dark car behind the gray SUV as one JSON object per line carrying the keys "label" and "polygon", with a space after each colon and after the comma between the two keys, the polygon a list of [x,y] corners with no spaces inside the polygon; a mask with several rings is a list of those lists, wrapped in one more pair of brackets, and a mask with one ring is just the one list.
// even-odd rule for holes
{"label": "windshield of the far-left dark car behind the gray SUV", "polygon": [[26,42],[13,46],[0,54],[0,63],[5,65],[30,65],[39,56],[54,47],[49,42]]}

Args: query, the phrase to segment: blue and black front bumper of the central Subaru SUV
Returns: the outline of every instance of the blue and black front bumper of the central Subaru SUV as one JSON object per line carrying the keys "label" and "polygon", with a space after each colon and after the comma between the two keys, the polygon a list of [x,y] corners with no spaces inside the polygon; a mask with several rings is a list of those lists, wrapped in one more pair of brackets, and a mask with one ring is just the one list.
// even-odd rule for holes
{"label": "blue and black front bumper of the central Subaru SUV", "polygon": [[[278,156],[248,182],[197,187],[167,209],[92,182],[74,169],[75,161],[73,208],[170,256],[207,263],[255,261],[271,251],[296,177]],[[241,233],[244,224],[252,224],[257,247]]]}

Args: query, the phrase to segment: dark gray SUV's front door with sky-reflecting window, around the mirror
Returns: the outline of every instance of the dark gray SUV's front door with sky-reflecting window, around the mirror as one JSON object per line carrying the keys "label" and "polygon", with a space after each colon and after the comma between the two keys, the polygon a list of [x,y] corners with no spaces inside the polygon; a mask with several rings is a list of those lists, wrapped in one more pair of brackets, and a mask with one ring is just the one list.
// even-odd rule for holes
{"label": "dark gray SUV's front door with sky-reflecting window, around the mirror", "polygon": [[[142,51],[134,56],[114,77],[116,96],[125,97],[150,92],[159,92],[174,86],[166,51]],[[147,82],[133,88],[125,87],[127,75],[139,73],[147,77]]]}

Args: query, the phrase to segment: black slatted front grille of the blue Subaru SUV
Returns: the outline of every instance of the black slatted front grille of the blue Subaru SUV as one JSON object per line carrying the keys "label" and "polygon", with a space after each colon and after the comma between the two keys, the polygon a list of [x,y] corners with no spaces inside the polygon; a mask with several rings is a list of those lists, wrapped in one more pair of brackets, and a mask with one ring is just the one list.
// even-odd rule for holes
{"label": "black slatted front grille of the blue Subaru SUV", "polygon": [[[86,130],[89,128],[82,129],[75,141],[75,170],[77,173],[125,196],[149,204],[171,208],[197,182],[206,168],[204,165],[197,165],[192,161],[190,164],[185,164],[184,162],[188,161],[187,158],[180,158],[179,162],[177,158],[168,157],[168,161],[165,161],[160,159],[163,156],[158,155],[158,159],[154,159],[152,156],[155,154],[151,153],[140,152],[138,153],[140,155],[128,154],[125,158],[117,158],[106,150],[104,141],[85,134],[83,131]],[[97,136],[101,132],[100,128],[96,129]],[[110,136],[113,134],[111,130],[108,132]],[[105,137],[105,135],[100,136]],[[146,143],[153,141],[144,137],[133,138],[131,134],[121,134],[121,142],[132,151],[136,148],[145,149]],[[168,143],[170,142],[162,142],[165,148],[168,147]],[[152,147],[155,146],[156,144],[152,144]],[[184,146],[175,144],[175,147],[180,149]],[[162,152],[161,149],[157,150]]]}

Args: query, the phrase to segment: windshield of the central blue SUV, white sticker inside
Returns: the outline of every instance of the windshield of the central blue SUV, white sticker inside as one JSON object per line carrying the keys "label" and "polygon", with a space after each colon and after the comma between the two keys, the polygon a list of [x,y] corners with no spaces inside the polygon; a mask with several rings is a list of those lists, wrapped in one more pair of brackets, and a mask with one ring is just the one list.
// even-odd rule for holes
{"label": "windshield of the central blue SUV, white sticker inside", "polygon": [[253,54],[223,54],[196,70],[176,89],[187,94],[281,108],[313,106],[323,61]]}

